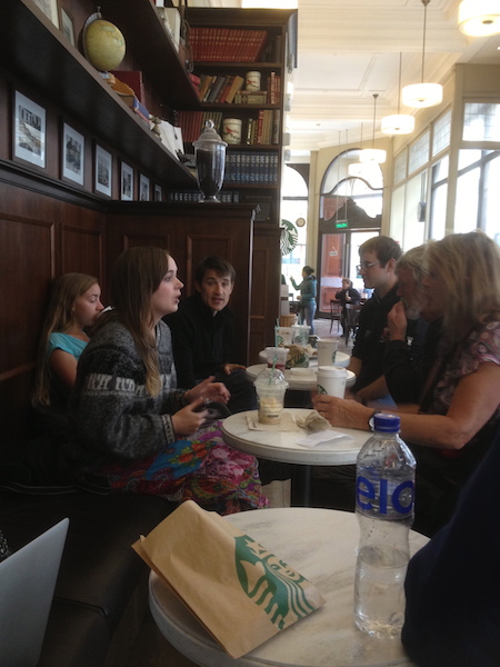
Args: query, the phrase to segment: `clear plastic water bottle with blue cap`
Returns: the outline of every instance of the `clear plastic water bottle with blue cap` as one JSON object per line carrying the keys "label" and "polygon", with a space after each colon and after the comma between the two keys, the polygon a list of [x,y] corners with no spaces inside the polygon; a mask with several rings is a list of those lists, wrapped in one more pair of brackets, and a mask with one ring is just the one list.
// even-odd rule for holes
{"label": "clear plastic water bottle with blue cap", "polygon": [[374,435],[356,462],[354,623],[377,637],[396,638],[404,619],[404,576],[410,559],[416,460],[399,437],[396,415],[376,414]]}

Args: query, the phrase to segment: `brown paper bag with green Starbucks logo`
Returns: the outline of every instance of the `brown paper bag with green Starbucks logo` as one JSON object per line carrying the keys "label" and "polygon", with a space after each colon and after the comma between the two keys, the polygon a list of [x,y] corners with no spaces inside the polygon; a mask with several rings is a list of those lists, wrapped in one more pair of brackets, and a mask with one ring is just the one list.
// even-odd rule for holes
{"label": "brown paper bag with green Starbucks logo", "polygon": [[304,577],[192,500],[132,546],[233,658],[324,604]]}

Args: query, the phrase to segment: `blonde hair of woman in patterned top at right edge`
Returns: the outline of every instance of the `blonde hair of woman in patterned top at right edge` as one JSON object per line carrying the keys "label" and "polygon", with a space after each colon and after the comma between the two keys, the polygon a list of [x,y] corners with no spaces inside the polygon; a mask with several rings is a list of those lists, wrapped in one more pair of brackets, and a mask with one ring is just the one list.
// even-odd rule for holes
{"label": "blonde hair of woman in patterned top at right edge", "polygon": [[500,248],[482,231],[430,241],[424,262],[444,282],[443,330],[450,342],[500,319]]}

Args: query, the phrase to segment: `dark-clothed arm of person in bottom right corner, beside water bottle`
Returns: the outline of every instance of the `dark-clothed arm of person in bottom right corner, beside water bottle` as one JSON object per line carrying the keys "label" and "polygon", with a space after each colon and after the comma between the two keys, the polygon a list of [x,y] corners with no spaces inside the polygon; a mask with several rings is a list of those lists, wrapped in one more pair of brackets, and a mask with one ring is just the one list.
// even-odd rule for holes
{"label": "dark-clothed arm of person in bottom right corner, beside water bottle", "polygon": [[450,522],[408,565],[401,640],[420,667],[500,665],[499,470],[500,430]]}

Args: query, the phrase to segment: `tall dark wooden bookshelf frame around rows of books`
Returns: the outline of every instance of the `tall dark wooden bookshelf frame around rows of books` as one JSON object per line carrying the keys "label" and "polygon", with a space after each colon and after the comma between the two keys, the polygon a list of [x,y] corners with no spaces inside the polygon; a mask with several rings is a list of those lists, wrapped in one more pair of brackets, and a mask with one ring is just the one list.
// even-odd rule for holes
{"label": "tall dark wooden bookshelf frame around rows of books", "polygon": [[[253,52],[247,51],[249,58],[244,61],[238,60],[238,53],[234,60],[231,60],[231,51],[227,51],[227,59],[223,61],[210,60],[206,53],[201,53],[202,60],[194,59],[194,73],[200,78],[203,74],[212,77],[242,77],[244,79],[249,71],[261,72],[261,90],[266,91],[268,99],[266,102],[248,103],[227,103],[224,101],[201,101],[201,112],[183,112],[183,118],[189,118],[190,113],[196,115],[199,120],[193,129],[191,127],[188,133],[192,141],[203,127],[204,118],[213,115],[217,117],[216,127],[222,133],[222,121],[224,118],[238,118],[242,121],[241,143],[230,145],[227,150],[227,178],[223,188],[238,191],[239,201],[267,205],[270,215],[266,215],[263,220],[268,223],[279,226],[280,223],[280,200],[281,200],[281,169],[283,152],[283,107],[286,88],[286,43],[287,31],[290,17],[294,12],[283,10],[237,10],[237,9],[199,9],[190,8],[187,12],[187,19],[192,29],[203,29],[208,38],[207,49],[217,48],[216,40],[218,31],[233,31],[234,33],[257,33],[266,32],[266,41],[260,49]],[[212,39],[210,39],[210,36]],[[197,49],[194,49],[194,53]],[[256,58],[257,60],[252,60]],[[271,102],[270,90],[268,89],[268,79],[273,72],[274,81],[279,80],[279,89],[273,88],[273,103]],[[244,89],[244,86],[243,86]],[[259,121],[259,116],[262,118]],[[266,137],[259,141],[257,131],[259,123],[266,118],[266,128],[269,128]],[[269,120],[270,119],[270,120]],[[249,133],[249,126],[253,123],[256,130],[253,135]],[[269,125],[270,123],[270,125]],[[182,123],[181,123],[182,127]],[[186,139],[186,137],[184,137]],[[240,165],[240,158],[246,158],[246,168],[233,168]],[[267,165],[273,165],[270,169],[260,169],[260,160]]]}

